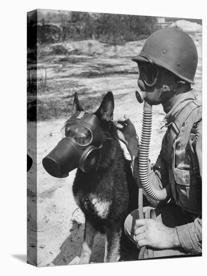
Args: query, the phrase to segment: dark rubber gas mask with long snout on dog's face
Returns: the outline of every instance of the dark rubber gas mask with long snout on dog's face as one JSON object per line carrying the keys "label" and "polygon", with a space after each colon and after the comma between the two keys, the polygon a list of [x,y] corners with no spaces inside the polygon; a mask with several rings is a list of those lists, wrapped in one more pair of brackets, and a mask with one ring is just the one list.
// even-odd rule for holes
{"label": "dark rubber gas mask with long snout on dog's face", "polygon": [[76,111],[62,128],[63,139],[43,159],[43,167],[54,177],[67,177],[75,168],[93,169],[100,156],[104,134],[96,115]]}

